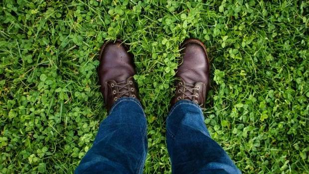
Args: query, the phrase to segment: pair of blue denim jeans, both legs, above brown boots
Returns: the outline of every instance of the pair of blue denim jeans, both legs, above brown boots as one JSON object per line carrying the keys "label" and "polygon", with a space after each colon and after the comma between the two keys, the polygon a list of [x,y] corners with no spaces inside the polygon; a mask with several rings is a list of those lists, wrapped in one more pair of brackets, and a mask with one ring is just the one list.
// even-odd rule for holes
{"label": "pair of blue denim jeans, both legs, above brown boots", "polygon": [[[146,122],[138,100],[118,100],[75,174],[142,174],[148,149]],[[166,124],[173,174],[241,174],[211,139],[200,106],[190,101],[177,102]]]}

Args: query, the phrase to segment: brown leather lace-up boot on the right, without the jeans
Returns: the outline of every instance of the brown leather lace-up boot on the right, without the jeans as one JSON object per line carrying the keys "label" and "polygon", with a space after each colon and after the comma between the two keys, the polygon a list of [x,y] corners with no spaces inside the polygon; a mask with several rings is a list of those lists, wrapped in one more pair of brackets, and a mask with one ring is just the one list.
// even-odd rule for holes
{"label": "brown leather lace-up boot on the right, without the jeans", "polygon": [[205,45],[197,39],[185,40],[179,49],[183,57],[176,73],[176,94],[171,107],[179,100],[204,106],[209,90],[209,60]]}

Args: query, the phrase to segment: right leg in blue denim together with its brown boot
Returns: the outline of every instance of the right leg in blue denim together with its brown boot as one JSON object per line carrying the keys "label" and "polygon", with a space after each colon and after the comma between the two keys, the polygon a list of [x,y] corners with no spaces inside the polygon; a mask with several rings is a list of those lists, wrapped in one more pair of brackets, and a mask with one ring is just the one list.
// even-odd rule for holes
{"label": "right leg in blue denim together with its brown boot", "polygon": [[240,174],[224,150],[211,139],[201,106],[209,90],[209,60],[205,45],[184,41],[179,49],[176,94],[167,117],[167,150],[173,174]]}

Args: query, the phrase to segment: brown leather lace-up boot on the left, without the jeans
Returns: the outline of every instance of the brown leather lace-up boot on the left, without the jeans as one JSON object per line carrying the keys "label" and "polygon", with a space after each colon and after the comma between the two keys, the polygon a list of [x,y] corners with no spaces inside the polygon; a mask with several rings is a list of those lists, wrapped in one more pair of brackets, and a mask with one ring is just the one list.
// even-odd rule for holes
{"label": "brown leather lace-up boot on the left, without the jeans", "polygon": [[108,112],[122,97],[139,99],[134,81],[135,64],[129,48],[122,40],[106,42],[100,51],[98,68],[99,83]]}

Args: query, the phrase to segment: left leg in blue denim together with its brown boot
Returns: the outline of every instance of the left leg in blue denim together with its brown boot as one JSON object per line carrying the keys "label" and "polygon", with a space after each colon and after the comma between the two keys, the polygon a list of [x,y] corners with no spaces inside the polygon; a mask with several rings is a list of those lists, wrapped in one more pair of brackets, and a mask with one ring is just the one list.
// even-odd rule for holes
{"label": "left leg in blue denim together with its brown boot", "polygon": [[147,156],[147,124],[134,82],[133,55],[123,41],[106,42],[100,51],[98,76],[110,113],[101,123],[93,147],[76,174],[142,174]]}

